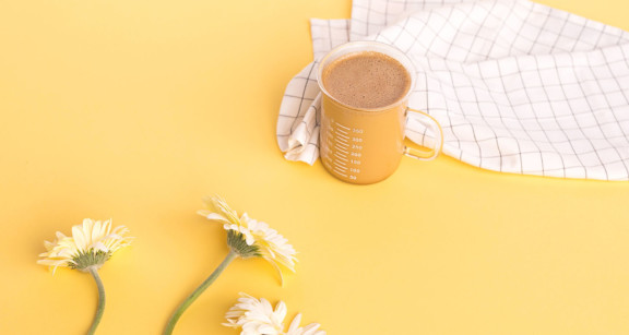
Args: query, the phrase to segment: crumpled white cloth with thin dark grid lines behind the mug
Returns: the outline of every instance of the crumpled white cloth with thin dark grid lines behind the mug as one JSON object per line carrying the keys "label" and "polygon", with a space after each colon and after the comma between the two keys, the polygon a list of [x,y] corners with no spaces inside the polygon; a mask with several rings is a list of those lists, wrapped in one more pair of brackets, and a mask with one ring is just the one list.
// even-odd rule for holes
{"label": "crumpled white cloth with thin dark grid lines behind the mug", "polygon": [[[526,0],[354,0],[352,20],[312,20],[314,59],[348,40],[403,50],[410,107],[443,128],[446,155],[485,169],[629,180],[629,33]],[[288,84],[277,142],[319,157],[314,61]],[[406,136],[432,134],[410,113]]]}

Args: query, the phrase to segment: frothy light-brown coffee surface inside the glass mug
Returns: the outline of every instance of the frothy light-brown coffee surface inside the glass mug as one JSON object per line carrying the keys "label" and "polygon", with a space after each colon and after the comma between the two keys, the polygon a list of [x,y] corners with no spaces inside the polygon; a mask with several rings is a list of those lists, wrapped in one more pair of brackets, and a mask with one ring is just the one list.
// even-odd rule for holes
{"label": "frothy light-brown coffee surface inside the glass mug", "polygon": [[376,51],[348,53],[322,73],[323,87],[336,100],[356,108],[381,108],[403,98],[411,75],[397,60]]}

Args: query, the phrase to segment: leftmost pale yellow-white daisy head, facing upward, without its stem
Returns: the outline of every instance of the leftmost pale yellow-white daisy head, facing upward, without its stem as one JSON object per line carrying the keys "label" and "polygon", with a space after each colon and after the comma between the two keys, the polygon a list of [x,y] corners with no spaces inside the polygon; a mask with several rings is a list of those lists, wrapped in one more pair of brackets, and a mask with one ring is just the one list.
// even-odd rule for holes
{"label": "leftmost pale yellow-white daisy head, facing upward, without its stem", "polygon": [[82,225],[72,227],[72,236],[57,231],[54,242],[45,241],[46,252],[37,264],[52,267],[58,266],[76,268],[86,272],[90,267],[99,268],[111,254],[122,247],[131,243],[132,237],[124,237],[129,232],[124,226],[111,228],[111,220],[99,222],[86,218]]}

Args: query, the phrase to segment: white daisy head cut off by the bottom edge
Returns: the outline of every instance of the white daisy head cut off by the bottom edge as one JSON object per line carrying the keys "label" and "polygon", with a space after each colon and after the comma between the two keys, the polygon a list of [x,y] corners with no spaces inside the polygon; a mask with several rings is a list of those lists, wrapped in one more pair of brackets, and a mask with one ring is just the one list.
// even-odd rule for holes
{"label": "white daisy head cut off by the bottom edge", "polygon": [[240,328],[240,335],[325,335],[324,331],[319,331],[321,325],[318,323],[299,327],[301,314],[297,314],[284,332],[286,313],[284,301],[277,302],[273,309],[266,299],[256,299],[241,292],[238,302],[225,314],[227,323],[223,325]]}

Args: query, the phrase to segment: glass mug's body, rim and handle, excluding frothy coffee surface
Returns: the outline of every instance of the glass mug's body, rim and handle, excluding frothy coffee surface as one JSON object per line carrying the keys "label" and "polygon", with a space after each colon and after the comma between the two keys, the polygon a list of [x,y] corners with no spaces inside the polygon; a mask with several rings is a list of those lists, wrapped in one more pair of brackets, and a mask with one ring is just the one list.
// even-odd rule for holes
{"label": "glass mug's body, rim and handle, excluding frothy coffee surface", "polygon": [[[325,68],[351,53],[380,52],[399,61],[411,77],[408,92],[395,103],[380,108],[357,108],[341,103],[323,85]],[[321,88],[320,154],[325,169],[349,183],[369,184],[391,176],[403,155],[435,159],[443,145],[439,122],[426,112],[408,108],[408,96],[416,82],[412,61],[401,50],[377,41],[353,41],[336,47],[319,64],[317,80]],[[435,134],[434,148],[412,148],[404,145],[408,110]]]}

